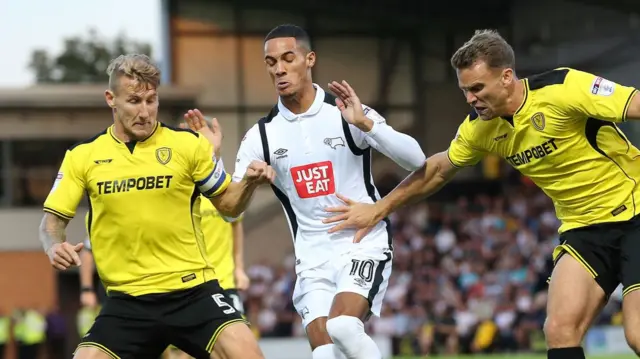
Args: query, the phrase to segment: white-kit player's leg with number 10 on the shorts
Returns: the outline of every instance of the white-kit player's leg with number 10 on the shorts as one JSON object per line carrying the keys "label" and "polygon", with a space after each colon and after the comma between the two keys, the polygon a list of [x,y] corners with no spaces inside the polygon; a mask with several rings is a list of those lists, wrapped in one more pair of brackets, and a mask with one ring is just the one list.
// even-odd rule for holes
{"label": "white-kit player's leg with number 10 on the shorts", "polygon": [[381,359],[376,343],[364,331],[370,314],[380,316],[391,275],[391,252],[362,250],[348,258],[338,273],[327,332],[348,359]]}

